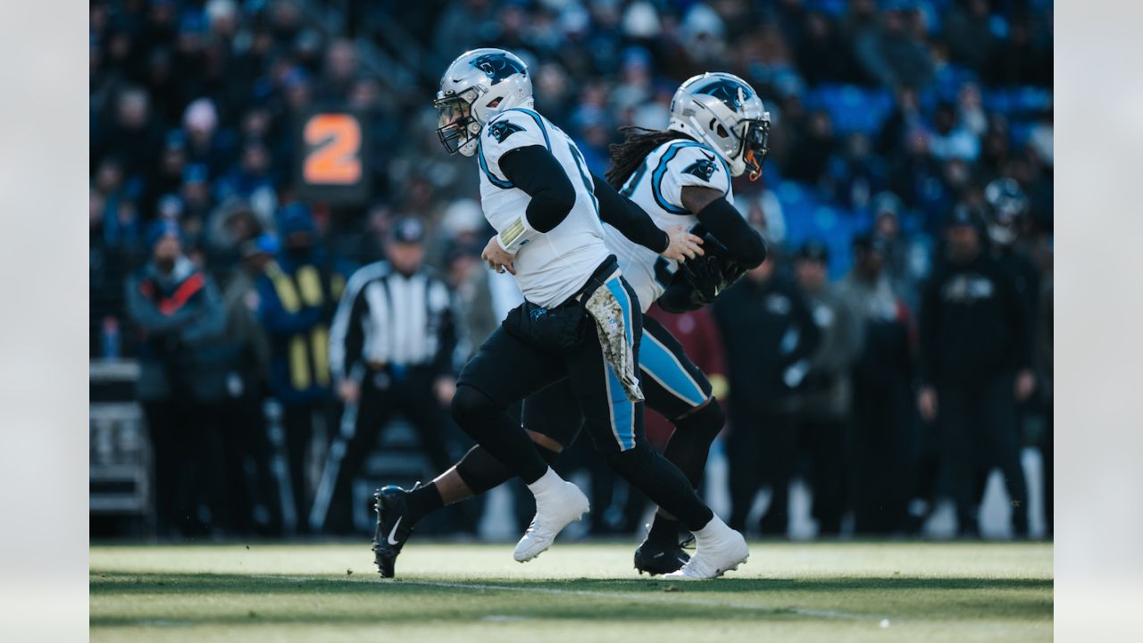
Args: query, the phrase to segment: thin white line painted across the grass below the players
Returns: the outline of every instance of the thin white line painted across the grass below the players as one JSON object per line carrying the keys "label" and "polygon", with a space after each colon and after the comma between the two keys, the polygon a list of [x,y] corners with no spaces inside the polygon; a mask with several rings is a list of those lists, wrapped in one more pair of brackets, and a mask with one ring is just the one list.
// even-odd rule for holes
{"label": "thin white line painted across the grass below the players", "polygon": [[[698,598],[694,596],[665,596],[658,594],[639,594],[634,592],[600,592],[597,589],[561,589],[558,587],[518,587],[512,585],[488,585],[481,582],[445,582],[445,581],[432,581],[432,580],[354,580],[349,578],[313,578],[313,577],[286,577],[286,575],[254,575],[259,580],[287,580],[291,582],[315,582],[315,581],[337,581],[337,582],[384,582],[393,585],[416,585],[421,587],[443,587],[449,589],[486,589],[490,592],[520,592],[526,594],[550,594],[555,596],[590,596],[593,598],[613,598],[622,601],[631,601],[636,603],[652,603],[657,605],[698,605],[703,608],[729,608],[733,610],[745,610],[751,612],[768,612],[768,613],[793,613],[802,617],[814,617],[824,619],[840,619],[840,620],[857,620],[857,621],[870,621],[880,622],[886,617],[884,616],[872,616],[872,614],[858,614],[853,612],[839,612],[836,610],[810,610],[806,608],[793,608],[793,606],[775,606],[775,605],[762,605],[758,603],[736,603],[733,601],[719,601],[717,598]],[[662,582],[662,581],[661,581]],[[687,582],[693,581],[681,581],[679,585],[686,587]],[[717,581],[716,581],[717,582]],[[686,592],[680,589],[679,593]]]}

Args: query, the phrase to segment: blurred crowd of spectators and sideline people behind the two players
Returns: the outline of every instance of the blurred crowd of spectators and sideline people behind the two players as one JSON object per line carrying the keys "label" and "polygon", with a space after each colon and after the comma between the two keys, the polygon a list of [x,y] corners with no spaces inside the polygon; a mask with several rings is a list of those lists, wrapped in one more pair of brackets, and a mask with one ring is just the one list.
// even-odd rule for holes
{"label": "blurred crowd of spectators and sideline people behind the two players", "polygon": [[[507,277],[479,265],[477,172],[440,149],[431,108],[448,61],[478,46],[526,59],[537,110],[599,175],[617,128],[663,128],[695,73],[736,73],[770,111],[764,177],[736,182],[735,203],[774,257],[712,311],[668,320],[729,400],[733,526],[769,486],[759,526],[784,533],[801,477],[822,533],[844,516],[914,532],[950,497],[973,534],[994,467],[1026,533],[1020,447],[1037,442],[1050,529],[1052,19],[1050,0],[93,0],[91,358],[141,365],[161,535],[282,530],[281,507],[250,517],[273,505],[274,482],[251,474],[270,458],[254,435],[266,398],[288,457],[314,469],[290,465],[286,522],[306,529],[307,450],[344,423],[328,338],[354,267],[423,246],[455,302],[457,364],[511,305]],[[298,198],[297,124],[315,108],[367,120],[360,205]],[[989,248],[998,178],[1024,207]],[[394,230],[405,219],[423,231]],[[315,289],[297,281],[306,267]],[[1020,310],[950,312],[980,275]],[[958,362],[980,352],[994,359]],[[450,453],[467,446],[438,430]],[[592,527],[633,530],[639,502],[597,482],[594,507],[626,507]]]}

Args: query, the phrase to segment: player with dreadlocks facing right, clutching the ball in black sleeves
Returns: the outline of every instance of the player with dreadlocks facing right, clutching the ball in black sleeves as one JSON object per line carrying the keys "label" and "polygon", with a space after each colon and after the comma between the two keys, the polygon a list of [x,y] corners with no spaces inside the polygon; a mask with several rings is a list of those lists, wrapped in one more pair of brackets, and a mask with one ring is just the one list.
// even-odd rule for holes
{"label": "player with dreadlocks facing right, clutching the ball in black sleeves", "polygon": [[[676,92],[666,130],[631,128],[622,144],[613,145],[607,177],[622,186],[623,196],[662,229],[682,224],[706,236],[706,255],[680,265],[605,225],[607,246],[618,256],[644,311],[656,300],[670,312],[710,303],[766,259],[761,236],[733,206],[730,177],[758,178],[768,132],[769,114],[749,84],[729,73],[705,73]],[[697,486],[726,414],[703,372],[652,317],[644,318],[639,356],[647,406],[676,427],[664,454]],[[558,388],[528,398],[525,426],[558,444],[570,444],[578,431],[574,420],[545,420],[569,416],[567,398],[568,392]],[[694,564],[680,547],[679,531],[678,522],[661,508],[647,540],[636,550],[636,569],[670,573],[681,566],[679,573],[692,573]]]}

